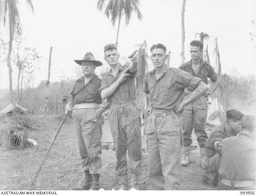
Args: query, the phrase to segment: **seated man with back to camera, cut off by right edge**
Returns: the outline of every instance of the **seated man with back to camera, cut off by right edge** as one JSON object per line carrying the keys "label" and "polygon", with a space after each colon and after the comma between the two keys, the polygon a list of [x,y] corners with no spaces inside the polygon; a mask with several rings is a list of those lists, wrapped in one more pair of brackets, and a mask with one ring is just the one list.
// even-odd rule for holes
{"label": "seated man with back to camera, cut off by right edge", "polygon": [[242,133],[225,138],[220,143],[222,178],[218,190],[256,190],[256,130],[255,118],[242,117]]}

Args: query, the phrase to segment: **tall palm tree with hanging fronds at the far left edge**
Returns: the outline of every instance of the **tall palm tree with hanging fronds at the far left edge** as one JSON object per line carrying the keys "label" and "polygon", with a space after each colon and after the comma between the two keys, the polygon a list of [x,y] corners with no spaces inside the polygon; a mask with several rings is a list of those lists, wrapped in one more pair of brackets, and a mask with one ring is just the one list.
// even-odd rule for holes
{"label": "tall palm tree with hanging fronds at the far left edge", "polygon": [[[34,6],[31,0],[26,0],[28,5],[34,10]],[[12,67],[10,64],[10,54],[12,51],[14,34],[17,30],[17,26],[20,22],[18,13],[18,1],[17,0],[0,0],[0,14],[3,17],[3,23],[6,26],[6,21],[8,22],[9,29],[9,47],[7,53],[7,66],[9,70],[9,88],[10,88],[10,102],[14,103],[13,98],[13,84],[12,84]]]}

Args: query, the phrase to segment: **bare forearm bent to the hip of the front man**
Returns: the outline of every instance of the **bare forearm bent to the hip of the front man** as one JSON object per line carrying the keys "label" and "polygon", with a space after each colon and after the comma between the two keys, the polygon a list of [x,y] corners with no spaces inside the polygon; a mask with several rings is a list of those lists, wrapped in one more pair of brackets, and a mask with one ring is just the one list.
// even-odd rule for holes
{"label": "bare forearm bent to the hip of the front man", "polygon": [[208,89],[208,86],[204,82],[199,82],[198,87],[189,96],[187,96],[178,106],[177,112],[181,112],[184,106],[196,101],[203,94],[206,94],[206,91]]}

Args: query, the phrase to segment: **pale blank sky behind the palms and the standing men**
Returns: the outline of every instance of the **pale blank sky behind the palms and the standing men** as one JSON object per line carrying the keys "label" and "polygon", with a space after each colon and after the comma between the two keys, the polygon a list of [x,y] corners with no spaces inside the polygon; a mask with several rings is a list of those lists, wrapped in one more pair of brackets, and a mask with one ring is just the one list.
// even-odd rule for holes
{"label": "pale blank sky behind the palms and the standing men", "polygon": [[[102,61],[97,73],[106,70],[103,47],[115,42],[117,26],[112,26],[103,12],[96,9],[96,0],[33,1],[34,13],[19,1],[20,18],[26,46],[36,47],[42,57],[34,84],[47,78],[50,46],[53,46],[51,82],[61,78],[76,78],[80,67],[74,59],[81,59],[87,51]],[[161,42],[170,54],[170,66],[181,65],[181,10],[182,0],[141,0],[142,20],[132,15],[129,26],[122,21],[118,50],[121,62],[146,40],[147,48]],[[186,0],[185,56],[190,60],[189,44],[195,34],[205,32],[218,38],[222,73],[248,76],[255,73],[256,42],[250,32],[256,32],[251,20],[256,20],[254,0]],[[256,33],[255,33],[256,34]],[[6,30],[0,36],[8,42]],[[212,48],[210,50],[210,55]],[[150,54],[150,52],[149,52]],[[150,62],[150,60],[149,60]],[[17,70],[14,66],[14,86]],[[8,70],[0,66],[0,89],[8,88]]]}

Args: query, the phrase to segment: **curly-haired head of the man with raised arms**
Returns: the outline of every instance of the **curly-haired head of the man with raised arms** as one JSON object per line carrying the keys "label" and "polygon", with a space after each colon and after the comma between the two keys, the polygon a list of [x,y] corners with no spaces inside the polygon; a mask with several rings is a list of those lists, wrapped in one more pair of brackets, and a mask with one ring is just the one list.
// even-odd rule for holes
{"label": "curly-haired head of the man with raised arms", "polygon": [[104,56],[106,62],[110,66],[118,65],[119,54],[117,46],[115,46],[114,44],[110,43],[104,47]]}

